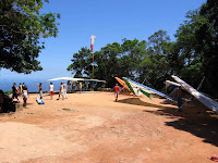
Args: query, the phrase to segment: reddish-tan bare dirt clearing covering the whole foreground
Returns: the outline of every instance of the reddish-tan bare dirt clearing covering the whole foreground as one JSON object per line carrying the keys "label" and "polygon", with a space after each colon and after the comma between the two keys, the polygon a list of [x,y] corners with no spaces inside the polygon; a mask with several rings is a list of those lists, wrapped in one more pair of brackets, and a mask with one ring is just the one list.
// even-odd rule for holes
{"label": "reddish-tan bare dirt clearing covering the whole foreground", "polygon": [[[1,163],[210,163],[218,117],[198,103],[183,112],[165,99],[70,93],[0,115]],[[57,98],[57,96],[56,96]]]}

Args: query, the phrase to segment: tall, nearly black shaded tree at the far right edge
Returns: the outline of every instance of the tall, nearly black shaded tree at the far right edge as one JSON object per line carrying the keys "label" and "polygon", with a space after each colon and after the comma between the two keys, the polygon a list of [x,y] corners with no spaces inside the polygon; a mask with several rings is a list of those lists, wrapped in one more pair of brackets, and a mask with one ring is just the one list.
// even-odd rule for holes
{"label": "tall, nearly black shaded tree at the far right edge", "polygon": [[207,0],[201,7],[199,15],[206,18],[196,32],[198,40],[196,50],[204,54],[203,72],[208,80],[208,87],[205,90],[218,98],[218,1]]}

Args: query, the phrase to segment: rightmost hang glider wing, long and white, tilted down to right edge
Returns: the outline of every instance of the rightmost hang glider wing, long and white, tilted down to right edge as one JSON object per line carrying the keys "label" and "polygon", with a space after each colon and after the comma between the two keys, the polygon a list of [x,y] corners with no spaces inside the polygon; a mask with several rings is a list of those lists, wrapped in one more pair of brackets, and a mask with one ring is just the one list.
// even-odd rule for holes
{"label": "rightmost hang glider wing, long and white, tilted down to right edge", "polygon": [[218,103],[210,98],[204,96],[192,86],[186,84],[184,80],[180,79],[178,76],[172,75],[172,78],[178,82],[187,92],[190,92],[193,97],[195,97],[199,102],[202,102],[205,106],[218,113]]}

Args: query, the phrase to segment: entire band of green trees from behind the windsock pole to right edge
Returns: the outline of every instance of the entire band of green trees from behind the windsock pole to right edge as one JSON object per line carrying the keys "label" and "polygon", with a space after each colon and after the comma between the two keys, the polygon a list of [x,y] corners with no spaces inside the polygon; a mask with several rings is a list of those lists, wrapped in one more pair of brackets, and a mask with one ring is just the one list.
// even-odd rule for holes
{"label": "entire band of green trees from behind the windsock pole to right edge", "polygon": [[[162,89],[171,75],[178,75],[202,91],[218,97],[218,2],[207,0],[198,10],[190,11],[180,25],[177,40],[171,41],[165,30],[158,30],[146,40],[123,39],[95,52],[95,78],[114,86],[114,78],[129,77],[156,89]],[[92,77],[92,51],[82,48],[73,55],[69,71],[75,76]]]}

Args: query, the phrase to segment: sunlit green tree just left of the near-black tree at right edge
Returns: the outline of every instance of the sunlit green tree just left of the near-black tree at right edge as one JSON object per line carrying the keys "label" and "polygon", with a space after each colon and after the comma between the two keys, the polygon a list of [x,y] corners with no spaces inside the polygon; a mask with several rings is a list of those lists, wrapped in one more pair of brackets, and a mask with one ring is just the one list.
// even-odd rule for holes
{"label": "sunlit green tree just left of the near-black tree at right edge", "polygon": [[178,74],[191,85],[196,86],[204,76],[204,72],[202,72],[203,53],[196,50],[198,41],[196,30],[204,24],[205,18],[198,14],[198,10],[189,11],[185,17],[187,21],[181,24],[175,34],[178,53],[183,60],[181,61],[183,67],[178,71]]}

